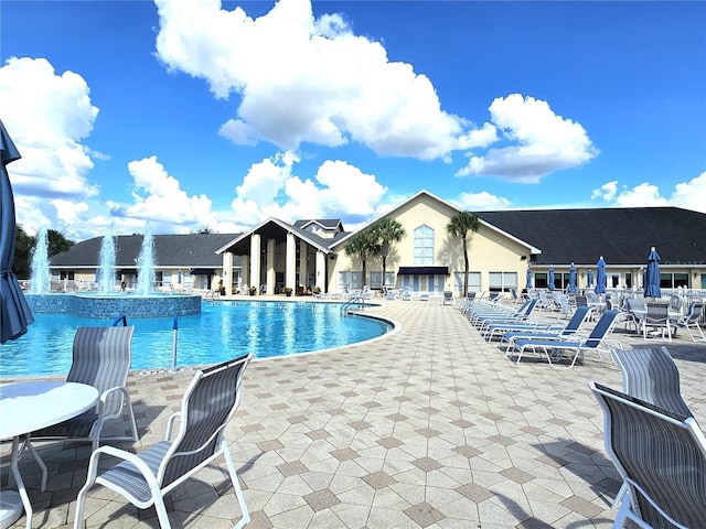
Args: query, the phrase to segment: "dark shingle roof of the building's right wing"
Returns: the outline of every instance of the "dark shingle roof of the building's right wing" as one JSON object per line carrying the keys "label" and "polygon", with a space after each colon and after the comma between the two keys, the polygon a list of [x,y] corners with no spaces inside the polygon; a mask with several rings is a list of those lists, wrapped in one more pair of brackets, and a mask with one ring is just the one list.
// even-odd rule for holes
{"label": "dark shingle roof of the building's right wing", "polygon": [[678,207],[479,212],[493,226],[539,248],[537,263],[706,263],[706,214]]}

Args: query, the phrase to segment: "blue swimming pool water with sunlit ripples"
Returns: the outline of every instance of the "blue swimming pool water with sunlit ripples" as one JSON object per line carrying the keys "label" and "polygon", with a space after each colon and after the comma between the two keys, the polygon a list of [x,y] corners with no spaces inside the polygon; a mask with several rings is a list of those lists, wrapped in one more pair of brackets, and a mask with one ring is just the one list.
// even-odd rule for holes
{"label": "blue swimming pool water with sunlit ripples", "polygon": [[[111,325],[67,314],[34,314],[20,338],[0,345],[0,377],[65,375],[77,326]],[[139,319],[132,337],[132,369],[170,369],[173,320]],[[391,331],[386,322],[342,316],[335,303],[216,302],[201,314],[181,316],[176,366],[214,364],[253,352],[256,357],[292,355],[371,339]]]}

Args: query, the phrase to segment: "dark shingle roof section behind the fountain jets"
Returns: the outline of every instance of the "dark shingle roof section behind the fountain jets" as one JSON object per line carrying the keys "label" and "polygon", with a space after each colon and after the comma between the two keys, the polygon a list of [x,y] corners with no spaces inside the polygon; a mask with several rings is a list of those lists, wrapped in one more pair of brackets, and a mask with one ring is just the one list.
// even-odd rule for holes
{"label": "dark shingle roof section behind the fountain jets", "polygon": [[[168,268],[221,268],[223,257],[215,250],[238,234],[154,235],[154,262]],[[116,267],[135,267],[142,249],[142,235],[116,237]],[[52,267],[98,266],[103,237],[84,240],[50,259]]]}

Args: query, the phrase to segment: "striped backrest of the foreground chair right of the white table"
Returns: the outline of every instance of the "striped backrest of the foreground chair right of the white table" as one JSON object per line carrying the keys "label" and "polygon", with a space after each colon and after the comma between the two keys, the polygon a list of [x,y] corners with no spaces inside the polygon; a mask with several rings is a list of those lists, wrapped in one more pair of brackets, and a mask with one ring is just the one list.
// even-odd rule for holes
{"label": "striped backrest of the foreground chair right of the white table", "polygon": [[225,427],[240,403],[243,373],[253,354],[197,371],[181,401],[176,438],[157,474],[164,487],[194,469],[220,449]]}

